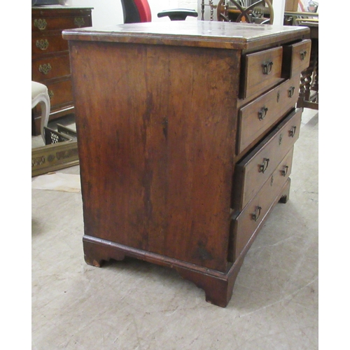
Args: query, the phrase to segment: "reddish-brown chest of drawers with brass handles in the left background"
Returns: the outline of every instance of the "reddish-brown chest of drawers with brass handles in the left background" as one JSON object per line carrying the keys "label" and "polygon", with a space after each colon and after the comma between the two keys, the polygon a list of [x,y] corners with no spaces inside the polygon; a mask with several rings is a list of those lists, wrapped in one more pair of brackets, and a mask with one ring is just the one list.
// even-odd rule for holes
{"label": "reddish-brown chest of drawers with brass handles in the left background", "polygon": [[[92,8],[35,6],[31,8],[31,80],[48,87],[50,120],[73,113],[68,44],[62,30],[90,27]],[[34,134],[40,134],[39,106],[33,111]]]}

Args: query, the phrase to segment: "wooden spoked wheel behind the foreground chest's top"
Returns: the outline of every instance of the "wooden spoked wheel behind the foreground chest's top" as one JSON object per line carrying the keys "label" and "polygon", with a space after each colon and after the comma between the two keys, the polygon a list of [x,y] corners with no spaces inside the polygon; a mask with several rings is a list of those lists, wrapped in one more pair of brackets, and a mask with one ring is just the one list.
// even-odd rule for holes
{"label": "wooden spoked wheel behind the foreground chest's top", "polygon": [[237,10],[239,10],[239,16],[236,20],[236,22],[241,22],[241,19],[244,18],[245,22],[251,23],[251,18],[249,17],[249,14],[253,13],[253,9],[257,6],[264,6],[265,3],[267,3],[267,7],[269,8],[269,18],[267,18],[265,21],[261,22],[260,24],[265,25],[269,23],[270,25],[274,22],[274,8],[272,7],[272,3],[269,0],[260,0],[258,2],[253,3],[251,6],[248,6],[247,8],[242,7],[239,3],[237,3],[236,0],[220,0],[218,2],[218,7],[216,10],[218,21],[221,22],[231,22],[228,16],[228,4],[231,2]]}

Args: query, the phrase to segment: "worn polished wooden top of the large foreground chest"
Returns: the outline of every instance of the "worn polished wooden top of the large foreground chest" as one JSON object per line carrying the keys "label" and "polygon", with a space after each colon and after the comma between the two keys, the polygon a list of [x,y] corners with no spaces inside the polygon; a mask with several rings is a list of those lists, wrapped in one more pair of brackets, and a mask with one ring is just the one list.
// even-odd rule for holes
{"label": "worn polished wooden top of the large foreground chest", "polygon": [[68,29],[67,40],[146,43],[250,50],[309,36],[309,28],[209,21],[146,22]]}

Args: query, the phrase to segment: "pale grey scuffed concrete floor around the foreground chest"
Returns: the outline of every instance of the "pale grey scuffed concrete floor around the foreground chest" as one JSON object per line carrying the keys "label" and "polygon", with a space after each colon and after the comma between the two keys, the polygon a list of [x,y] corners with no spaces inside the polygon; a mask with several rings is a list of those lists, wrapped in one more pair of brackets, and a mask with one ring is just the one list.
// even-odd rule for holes
{"label": "pale grey scuffed concrete floor around the foreground chest", "polygon": [[290,178],[225,309],[172,269],[87,265],[80,193],[32,189],[31,349],[318,349],[317,111],[304,110]]}

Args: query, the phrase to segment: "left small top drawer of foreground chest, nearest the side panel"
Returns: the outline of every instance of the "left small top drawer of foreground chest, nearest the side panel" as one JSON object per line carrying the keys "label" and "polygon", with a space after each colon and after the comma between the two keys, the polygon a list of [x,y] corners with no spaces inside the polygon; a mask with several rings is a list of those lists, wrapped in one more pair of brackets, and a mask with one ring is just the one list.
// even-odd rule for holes
{"label": "left small top drawer of foreground chest, nearest the side panel", "polygon": [[272,48],[246,55],[242,98],[264,92],[279,83],[283,48]]}

